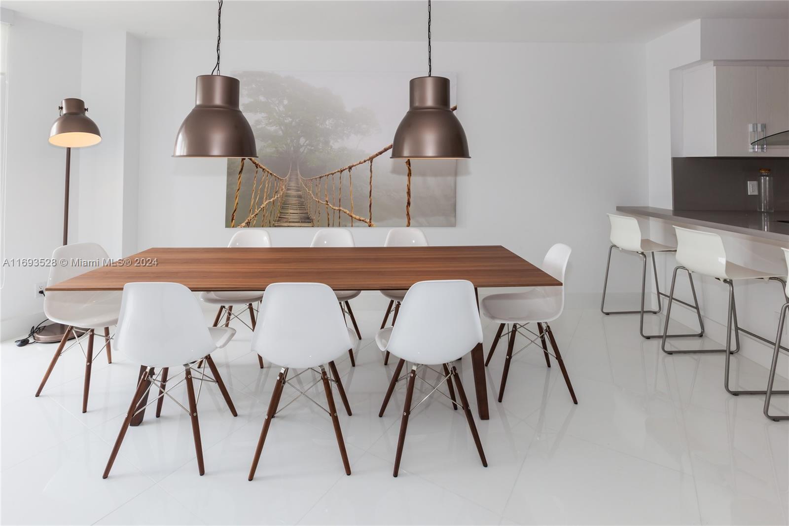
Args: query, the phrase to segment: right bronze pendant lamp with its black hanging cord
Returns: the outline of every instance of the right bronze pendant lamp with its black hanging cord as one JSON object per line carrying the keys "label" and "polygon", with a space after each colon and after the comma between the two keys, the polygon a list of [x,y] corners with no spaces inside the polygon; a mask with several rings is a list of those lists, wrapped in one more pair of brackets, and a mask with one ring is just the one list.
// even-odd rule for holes
{"label": "right bronze pendant lamp with its black hanging cord", "polygon": [[409,110],[394,132],[392,159],[469,159],[469,143],[451,110],[449,79],[432,76],[428,0],[428,76],[412,78]]}

